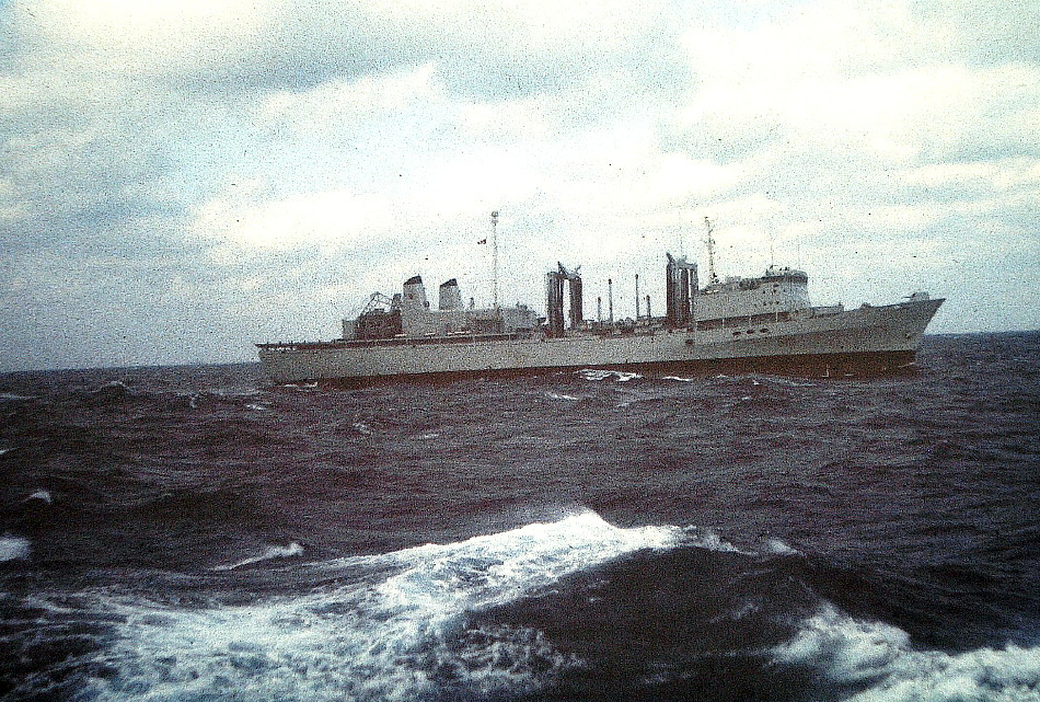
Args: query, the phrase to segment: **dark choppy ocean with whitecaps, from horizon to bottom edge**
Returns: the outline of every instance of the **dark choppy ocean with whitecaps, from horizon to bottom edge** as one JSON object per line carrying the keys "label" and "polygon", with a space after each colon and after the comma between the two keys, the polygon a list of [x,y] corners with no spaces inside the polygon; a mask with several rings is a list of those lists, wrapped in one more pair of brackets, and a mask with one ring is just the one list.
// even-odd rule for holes
{"label": "dark choppy ocean with whitecaps, from horizon to bottom edge", "polygon": [[1040,700],[1038,379],[0,376],[0,699]]}

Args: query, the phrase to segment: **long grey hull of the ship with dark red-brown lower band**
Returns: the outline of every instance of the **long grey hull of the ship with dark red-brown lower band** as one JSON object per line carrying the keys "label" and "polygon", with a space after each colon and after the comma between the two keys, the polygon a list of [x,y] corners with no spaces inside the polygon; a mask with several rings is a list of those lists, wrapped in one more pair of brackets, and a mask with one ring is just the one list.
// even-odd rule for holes
{"label": "long grey hull of the ship with dark red-brown lower band", "polygon": [[[730,321],[710,330],[578,334],[559,338],[393,340],[385,343],[262,344],[277,383],[516,375],[609,368],[633,371],[772,372],[841,377],[912,364],[943,300],[912,300],[788,320]],[[739,325],[736,325],[739,324]]]}

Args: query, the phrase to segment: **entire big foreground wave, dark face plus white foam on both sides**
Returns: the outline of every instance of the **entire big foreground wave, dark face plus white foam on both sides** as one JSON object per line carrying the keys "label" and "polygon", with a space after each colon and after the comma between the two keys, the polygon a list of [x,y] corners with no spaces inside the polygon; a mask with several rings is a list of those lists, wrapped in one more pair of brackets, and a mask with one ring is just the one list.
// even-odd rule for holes
{"label": "entire big foreground wave, dark face plus white foam on both sides", "polygon": [[[293,542],[216,569],[301,554]],[[84,669],[81,697],[999,702],[1040,691],[1040,649],[915,651],[901,629],[799,585],[805,557],[776,539],[746,551],[707,529],[620,528],[585,511],[292,567],[313,589],[244,605],[81,595],[113,622],[91,653],[103,672]]]}

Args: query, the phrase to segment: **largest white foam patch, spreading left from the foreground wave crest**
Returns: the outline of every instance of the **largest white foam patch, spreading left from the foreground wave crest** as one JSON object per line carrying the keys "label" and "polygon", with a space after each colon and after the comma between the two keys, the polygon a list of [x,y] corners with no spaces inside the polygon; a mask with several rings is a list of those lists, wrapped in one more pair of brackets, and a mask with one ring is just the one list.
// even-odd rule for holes
{"label": "largest white foam patch, spreading left from the foreground wave crest", "polygon": [[115,672],[91,678],[89,697],[414,700],[534,691],[581,661],[531,628],[467,626],[470,614],[682,538],[671,527],[622,529],[582,513],[309,564],[336,585],[249,606],[183,609],[97,596],[95,606],[125,623],[105,653]]}

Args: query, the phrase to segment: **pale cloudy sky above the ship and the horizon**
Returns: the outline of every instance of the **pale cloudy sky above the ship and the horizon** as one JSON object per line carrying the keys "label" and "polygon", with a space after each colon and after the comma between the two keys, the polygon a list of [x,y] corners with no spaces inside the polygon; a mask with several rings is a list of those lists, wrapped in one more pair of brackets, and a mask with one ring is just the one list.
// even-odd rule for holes
{"label": "pale cloudy sky above the ship and the horizon", "polygon": [[[0,0],[0,370],[255,359],[665,253],[1040,329],[1040,3]],[[1030,292],[1032,291],[1032,292]]]}

